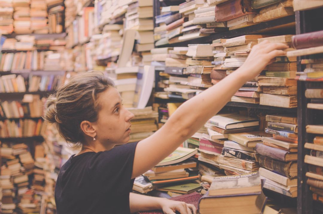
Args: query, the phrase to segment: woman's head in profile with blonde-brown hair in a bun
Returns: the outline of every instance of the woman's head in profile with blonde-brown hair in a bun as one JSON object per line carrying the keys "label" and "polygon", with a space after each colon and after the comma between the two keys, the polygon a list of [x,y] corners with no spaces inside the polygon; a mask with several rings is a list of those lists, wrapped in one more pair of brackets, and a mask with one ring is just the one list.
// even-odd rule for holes
{"label": "woman's head in profile with blonde-brown hair in a bun", "polygon": [[59,133],[75,146],[124,144],[133,114],[121,102],[112,80],[89,71],[72,77],[47,99],[44,119],[56,123]]}

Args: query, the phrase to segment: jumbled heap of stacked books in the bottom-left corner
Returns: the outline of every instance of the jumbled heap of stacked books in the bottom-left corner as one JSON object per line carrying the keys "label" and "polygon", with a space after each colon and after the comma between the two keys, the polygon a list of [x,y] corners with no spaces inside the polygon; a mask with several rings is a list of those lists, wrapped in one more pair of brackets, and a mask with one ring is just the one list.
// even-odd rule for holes
{"label": "jumbled heap of stacked books in the bottom-left corner", "polygon": [[[34,159],[26,144],[5,144],[1,147],[2,213],[39,212],[40,200],[31,188],[29,178],[34,173]],[[34,175],[35,181],[36,175]]]}

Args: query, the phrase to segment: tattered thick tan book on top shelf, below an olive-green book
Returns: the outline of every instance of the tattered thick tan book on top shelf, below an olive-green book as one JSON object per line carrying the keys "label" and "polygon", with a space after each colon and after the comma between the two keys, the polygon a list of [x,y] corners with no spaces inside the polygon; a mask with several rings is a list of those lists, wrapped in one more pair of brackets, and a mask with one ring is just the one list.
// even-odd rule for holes
{"label": "tattered thick tan book on top shelf, below an olive-green book", "polygon": [[266,22],[293,14],[293,7],[284,7],[282,5],[278,5],[276,8],[273,7],[272,10],[256,14],[254,17],[254,23]]}

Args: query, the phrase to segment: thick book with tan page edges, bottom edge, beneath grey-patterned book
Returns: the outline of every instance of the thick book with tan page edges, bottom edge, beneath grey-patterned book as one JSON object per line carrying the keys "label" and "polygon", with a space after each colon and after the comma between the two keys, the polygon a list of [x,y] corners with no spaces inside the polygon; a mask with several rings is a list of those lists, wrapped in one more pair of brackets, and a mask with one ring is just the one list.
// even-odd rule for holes
{"label": "thick book with tan page edges, bottom edge, beneath grey-patterned book", "polygon": [[241,214],[262,213],[265,209],[266,197],[262,192],[228,196],[209,196],[208,193],[206,192],[199,201],[200,213],[214,214],[214,207],[217,213],[235,213],[239,207]]}

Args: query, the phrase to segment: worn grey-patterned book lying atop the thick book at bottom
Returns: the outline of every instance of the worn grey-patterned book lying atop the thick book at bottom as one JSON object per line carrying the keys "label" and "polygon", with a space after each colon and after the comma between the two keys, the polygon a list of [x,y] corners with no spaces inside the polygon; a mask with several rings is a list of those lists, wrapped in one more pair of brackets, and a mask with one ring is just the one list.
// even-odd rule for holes
{"label": "worn grey-patterned book lying atop the thick book at bottom", "polygon": [[215,177],[209,189],[210,196],[226,196],[261,192],[258,172],[241,176]]}

